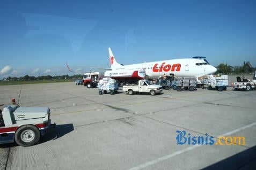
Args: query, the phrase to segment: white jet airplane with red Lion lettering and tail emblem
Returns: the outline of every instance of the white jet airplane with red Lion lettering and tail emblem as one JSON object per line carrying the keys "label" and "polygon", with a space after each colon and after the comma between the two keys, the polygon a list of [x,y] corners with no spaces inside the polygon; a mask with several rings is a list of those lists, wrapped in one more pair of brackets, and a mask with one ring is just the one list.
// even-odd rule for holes
{"label": "white jet airplane with red Lion lettering and tail emblem", "polygon": [[163,61],[154,61],[149,63],[122,65],[119,64],[108,48],[111,71],[106,71],[105,76],[115,78],[144,78],[144,75],[151,79],[159,76],[194,76],[213,74],[217,68],[210,65],[205,57],[193,57],[184,59],[172,59]]}

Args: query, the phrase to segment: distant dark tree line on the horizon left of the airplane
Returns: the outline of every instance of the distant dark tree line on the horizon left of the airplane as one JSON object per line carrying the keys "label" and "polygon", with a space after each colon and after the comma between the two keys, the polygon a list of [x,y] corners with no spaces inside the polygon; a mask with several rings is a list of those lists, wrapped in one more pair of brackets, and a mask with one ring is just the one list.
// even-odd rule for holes
{"label": "distant dark tree line on the horizon left of the airplane", "polygon": [[[33,80],[60,80],[60,79],[78,79],[78,78],[83,78],[83,75],[81,74],[76,74],[76,75],[42,75],[42,76],[20,76],[19,78],[17,77],[11,77],[9,76],[5,80],[7,81],[33,81]],[[4,80],[4,79],[3,79]]]}

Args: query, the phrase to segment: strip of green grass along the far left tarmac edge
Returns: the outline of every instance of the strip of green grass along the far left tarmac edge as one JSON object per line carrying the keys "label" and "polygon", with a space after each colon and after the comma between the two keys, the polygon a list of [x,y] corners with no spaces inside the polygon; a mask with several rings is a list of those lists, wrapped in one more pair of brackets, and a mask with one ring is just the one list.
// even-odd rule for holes
{"label": "strip of green grass along the far left tarmac edge", "polygon": [[68,79],[68,80],[33,80],[33,81],[0,81],[0,86],[7,86],[7,85],[18,85],[18,84],[39,84],[39,83],[60,83],[60,82],[71,82],[75,80]]}

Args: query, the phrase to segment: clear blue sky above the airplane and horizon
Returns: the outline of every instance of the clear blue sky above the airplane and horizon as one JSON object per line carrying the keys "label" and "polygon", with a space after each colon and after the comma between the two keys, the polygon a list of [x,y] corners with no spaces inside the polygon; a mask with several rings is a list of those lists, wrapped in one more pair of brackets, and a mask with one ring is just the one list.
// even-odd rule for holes
{"label": "clear blue sky above the airplane and horizon", "polygon": [[0,1],[0,78],[206,56],[256,66],[256,1]]}

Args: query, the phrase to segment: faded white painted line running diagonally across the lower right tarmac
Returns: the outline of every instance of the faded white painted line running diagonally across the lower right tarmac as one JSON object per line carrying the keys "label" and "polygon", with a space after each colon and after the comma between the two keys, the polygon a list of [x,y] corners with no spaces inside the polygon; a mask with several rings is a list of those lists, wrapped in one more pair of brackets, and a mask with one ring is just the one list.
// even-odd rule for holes
{"label": "faded white painted line running diagonally across the lower right tarmac", "polygon": [[[256,122],[251,123],[250,125],[244,126],[244,127],[242,127],[242,128],[238,128],[238,129],[233,130],[233,131],[231,131],[231,132],[225,133],[225,134],[223,134],[223,135],[220,135],[219,137],[221,137],[221,136],[228,136],[228,135],[237,133],[237,132],[239,132],[240,130],[250,128],[250,127],[252,127],[252,126],[254,126],[254,125],[256,125]],[[182,149],[182,150],[180,150],[180,151],[177,151],[177,152],[174,152],[174,153],[171,153],[171,154],[167,154],[167,155],[164,156],[164,157],[161,157],[161,158],[158,158],[158,159],[155,159],[155,160],[151,160],[151,161],[149,161],[149,162],[147,162],[147,163],[144,163],[144,164],[141,164],[141,165],[139,165],[139,166],[135,166],[135,167],[133,167],[133,168],[130,168],[129,170],[138,170],[138,169],[142,169],[142,168],[148,167],[148,166],[150,166],[150,165],[159,163],[160,161],[163,161],[163,160],[172,158],[172,157],[174,157],[174,156],[177,156],[177,155],[179,155],[179,154],[181,154],[181,153],[184,153],[184,152],[186,152],[186,151],[195,149],[195,148],[197,148],[198,146],[202,146],[202,145],[196,144],[196,145],[193,145],[193,146],[189,146],[188,148]]]}

